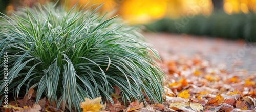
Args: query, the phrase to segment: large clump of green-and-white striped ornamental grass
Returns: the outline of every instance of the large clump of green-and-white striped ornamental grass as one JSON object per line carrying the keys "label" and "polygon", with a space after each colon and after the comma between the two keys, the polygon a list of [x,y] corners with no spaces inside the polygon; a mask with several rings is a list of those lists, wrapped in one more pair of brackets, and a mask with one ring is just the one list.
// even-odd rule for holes
{"label": "large clump of green-and-white striped ornamental grass", "polygon": [[33,87],[36,103],[46,96],[70,111],[80,111],[84,98],[102,96],[113,104],[113,86],[121,89],[125,103],[145,101],[143,93],[161,103],[164,74],[155,62],[158,54],[142,41],[137,28],[95,12],[66,12],[47,4],[2,17],[0,60],[2,68],[8,53],[8,76],[1,69],[0,96],[8,80],[9,96],[20,98]]}

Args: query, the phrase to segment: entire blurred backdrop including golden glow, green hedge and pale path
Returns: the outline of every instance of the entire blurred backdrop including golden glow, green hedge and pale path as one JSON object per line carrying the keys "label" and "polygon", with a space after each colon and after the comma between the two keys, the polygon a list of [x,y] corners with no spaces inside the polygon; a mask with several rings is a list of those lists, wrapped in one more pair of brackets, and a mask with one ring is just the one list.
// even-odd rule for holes
{"label": "entire blurred backdrop including golden glow, green hedge and pale path", "polygon": [[[9,15],[49,1],[57,0],[0,0],[0,11]],[[91,8],[104,3],[100,12],[140,26],[165,60],[200,54],[214,64],[227,63],[229,70],[240,65],[255,72],[256,0],[59,0],[66,10],[76,3]]]}

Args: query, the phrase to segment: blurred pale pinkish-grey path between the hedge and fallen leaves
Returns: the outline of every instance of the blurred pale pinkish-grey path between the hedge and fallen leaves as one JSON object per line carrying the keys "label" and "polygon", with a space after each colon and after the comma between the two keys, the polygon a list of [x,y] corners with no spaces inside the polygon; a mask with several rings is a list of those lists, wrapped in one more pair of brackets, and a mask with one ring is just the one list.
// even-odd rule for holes
{"label": "blurred pale pinkish-grey path between the hedge and fallen leaves", "polygon": [[201,56],[228,71],[256,73],[256,45],[243,40],[198,37],[167,33],[143,33],[163,61],[177,56]]}

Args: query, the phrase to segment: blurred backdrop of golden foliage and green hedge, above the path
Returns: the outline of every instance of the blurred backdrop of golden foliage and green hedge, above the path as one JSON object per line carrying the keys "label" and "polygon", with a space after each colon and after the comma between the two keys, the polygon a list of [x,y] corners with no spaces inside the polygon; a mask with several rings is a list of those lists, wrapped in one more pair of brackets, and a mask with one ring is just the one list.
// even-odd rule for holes
{"label": "blurred backdrop of golden foliage and green hedge, above the path", "polygon": [[[55,0],[1,0],[0,11],[10,14],[20,6]],[[60,0],[67,10],[104,3],[101,12],[120,15],[145,31],[208,35],[256,41],[256,0]],[[196,29],[195,29],[196,28]]]}

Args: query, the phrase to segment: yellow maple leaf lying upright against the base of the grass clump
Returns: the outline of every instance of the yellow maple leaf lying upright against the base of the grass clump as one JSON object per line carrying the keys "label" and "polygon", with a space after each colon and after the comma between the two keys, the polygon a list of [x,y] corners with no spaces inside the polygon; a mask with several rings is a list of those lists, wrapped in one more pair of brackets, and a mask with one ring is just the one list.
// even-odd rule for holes
{"label": "yellow maple leaf lying upright against the base of the grass clump", "polygon": [[86,111],[96,112],[96,111],[99,111],[103,107],[103,105],[101,105],[101,103],[100,103],[101,97],[98,97],[98,98],[95,98],[92,100],[85,98],[84,100],[85,100],[84,102],[80,103],[80,106],[81,106],[83,112],[86,112]]}

